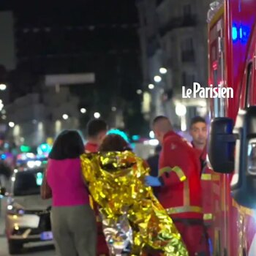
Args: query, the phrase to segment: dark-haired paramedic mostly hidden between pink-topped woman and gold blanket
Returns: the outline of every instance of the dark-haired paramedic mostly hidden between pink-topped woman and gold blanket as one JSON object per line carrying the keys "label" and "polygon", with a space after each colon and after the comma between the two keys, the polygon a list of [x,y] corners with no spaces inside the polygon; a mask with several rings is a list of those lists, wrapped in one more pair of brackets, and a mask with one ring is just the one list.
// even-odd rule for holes
{"label": "dark-haired paramedic mostly hidden between pink-topped woman and gold blanket", "polygon": [[[108,131],[108,125],[102,119],[93,119],[87,124],[87,138],[88,142],[85,146],[86,153],[95,153],[98,151],[99,145],[104,140]],[[99,211],[97,210],[97,204],[93,202],[90,197],[91,207],[97,217],[97,256],[109,255],[108,245],[105,240],[105,236],[102,230],[102,222],[99,217]]]}

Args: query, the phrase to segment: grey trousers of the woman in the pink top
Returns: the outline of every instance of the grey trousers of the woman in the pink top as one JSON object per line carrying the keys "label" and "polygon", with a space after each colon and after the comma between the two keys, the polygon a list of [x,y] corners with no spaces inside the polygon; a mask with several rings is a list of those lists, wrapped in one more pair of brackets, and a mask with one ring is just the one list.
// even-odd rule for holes
{"label": "grey trousers of the woman in the pink top", "polygon": [[51,225],[59,256],[95,256],[97,225],[89,205],[53,207]]}

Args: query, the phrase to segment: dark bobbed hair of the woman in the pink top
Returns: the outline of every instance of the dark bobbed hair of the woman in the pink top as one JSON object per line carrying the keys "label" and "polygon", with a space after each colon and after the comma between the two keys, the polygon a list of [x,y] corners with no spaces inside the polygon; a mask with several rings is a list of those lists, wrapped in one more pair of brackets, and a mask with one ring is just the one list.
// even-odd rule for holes
{"label": "dark bobbed hair of the woman in the pink top", "polygon": [[78,131],[64,130],[53,143],[50,151],[50,159],[78,158],[84,153],[83,139]]}

